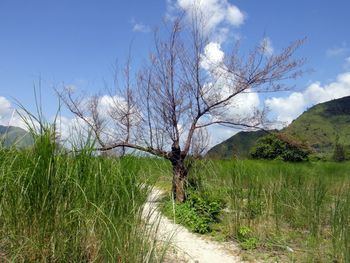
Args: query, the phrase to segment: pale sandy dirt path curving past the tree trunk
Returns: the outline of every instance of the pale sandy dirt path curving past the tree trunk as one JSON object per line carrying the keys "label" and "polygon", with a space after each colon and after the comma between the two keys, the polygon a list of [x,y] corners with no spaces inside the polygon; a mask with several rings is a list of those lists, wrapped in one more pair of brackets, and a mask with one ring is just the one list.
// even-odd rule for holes
{"label": "pale sandy dirt path curving past the tree trunk", "polygon": [[[157,239],[169,241],[171,248],[167,262],[197,262],[197,263],[226,263],[243,262],[238,256],[239,249],[232,243],[218,243],[205,240],[199,235],[190,233],[183,226],[174,224],[168,218],[160,215],[158,200],[162,191],[154,189],[144,207],[144,215],[150,215],[150,223],[159,222]],[[159,221],[158,221],[159,220]]]}

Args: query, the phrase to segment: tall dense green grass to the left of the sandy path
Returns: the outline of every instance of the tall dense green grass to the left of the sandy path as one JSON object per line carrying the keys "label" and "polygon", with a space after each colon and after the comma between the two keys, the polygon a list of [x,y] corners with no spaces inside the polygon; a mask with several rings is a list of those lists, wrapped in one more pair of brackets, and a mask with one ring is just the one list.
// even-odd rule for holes
{"label": "tall dense green grass to the left of the sandy path", "polygon": [[53,136],[0,149],[0,261],[161,262],[157,226],[141,218],[150,183],[138,159],[60,153]]}

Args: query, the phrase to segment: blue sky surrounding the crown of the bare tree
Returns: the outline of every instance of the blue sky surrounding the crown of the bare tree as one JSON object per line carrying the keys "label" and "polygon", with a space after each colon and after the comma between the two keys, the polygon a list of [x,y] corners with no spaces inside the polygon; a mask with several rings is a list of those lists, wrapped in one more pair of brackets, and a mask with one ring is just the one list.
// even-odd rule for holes
{"label": "blue sky surrounding the crown of the bare tree", "polygon": [[[106,83],[111,85],[113,65],[117,60],[125,61],[130,46],[137,65],[151,49],[152,28],[161,25],[173,9],[187,12],[186,3],[191,1],[1,0],[0,124],[8,121],[7,108],[9,103],[14,107],[13,98],[33,109],[33,83],[39,79],[47,116],[57,108],[55,86],[75,85],[93,93]],[[273,52],[278,52],[290,41],[307,37],[298,55],[307,59],[305,68],[313,72],[295,82],[294,95],[282,93],[278,94],[282,99],[270,100],[273,110],[281,103],[293,105],[294,100],[306,100],[299,105],[304,109],[326,100],[327,94],[350,95],[346,75],[350,74],[350,1],[202,2],[219,6],[222,12],[234,6],[243,14],[240,23],[225,25],[229,32],[220,42],[222,50],[236,38],[241,39],[243,49],[248,49],[266,36]],[[216,26],[223,28],[223,23]],[[307,93],[313,84],[324,91],[322,98],[312,97],[312,89]],[[290,121],[300,111],[278,117]],[[222,138],[227,137],[225,134]]]}

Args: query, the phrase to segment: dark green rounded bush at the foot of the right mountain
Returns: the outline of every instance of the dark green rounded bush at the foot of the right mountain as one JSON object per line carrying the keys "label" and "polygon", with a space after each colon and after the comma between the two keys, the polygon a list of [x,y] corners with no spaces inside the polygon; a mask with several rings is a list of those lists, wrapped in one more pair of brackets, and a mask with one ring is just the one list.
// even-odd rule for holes
{"label": "dark green rounded bush at the foot of the right mountain", "polygon": [[253,159],[281,159],[289,162],[300,162],[308,160],[309,151],[302,145],[279,138],[269,134],[258,140],[251,151]]}

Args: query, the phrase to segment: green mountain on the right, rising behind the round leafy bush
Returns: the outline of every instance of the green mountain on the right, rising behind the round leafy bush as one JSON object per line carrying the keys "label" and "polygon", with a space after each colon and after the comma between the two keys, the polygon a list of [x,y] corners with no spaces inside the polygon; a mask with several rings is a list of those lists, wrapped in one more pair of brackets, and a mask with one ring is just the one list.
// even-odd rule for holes
{"label": "green mountain on the right, rising behind the round leafy bush", "polygon": [[[336,142],[350,152],[350,96],[311,107],[278,133],[308,145],[318,155],[331,155]],[[211,148],[207,156],[248,158],[251,148],[265,134],[239,132]]]}

